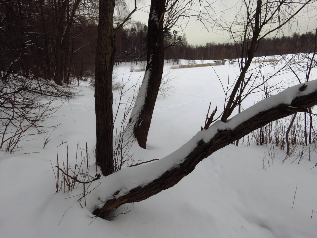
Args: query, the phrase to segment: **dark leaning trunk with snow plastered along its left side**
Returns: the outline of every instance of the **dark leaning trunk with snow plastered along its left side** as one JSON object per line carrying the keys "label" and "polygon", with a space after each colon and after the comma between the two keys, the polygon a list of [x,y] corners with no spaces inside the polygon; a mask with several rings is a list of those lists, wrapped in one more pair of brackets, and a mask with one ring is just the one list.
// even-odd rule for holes
{"label": "dark leaning trunk with snow plastered along its left side", "polygon": [[155,101],[159,93],[164,65],[163,23],[165,0],[151,1],[147,28],[147,63],[143,82],[135,107],[131,113],[130,125],[139,146],[146,148]]}

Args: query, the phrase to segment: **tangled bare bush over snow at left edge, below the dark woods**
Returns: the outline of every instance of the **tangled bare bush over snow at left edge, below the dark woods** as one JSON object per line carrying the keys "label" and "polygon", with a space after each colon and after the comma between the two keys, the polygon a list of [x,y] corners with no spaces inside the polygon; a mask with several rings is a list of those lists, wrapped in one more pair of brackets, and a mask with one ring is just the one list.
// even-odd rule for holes
{"label": "tangled bare bush over snow at left edge, below the dark woods", "polygon": [[18,148],[20,141],[46,133],[44,120],[59,109],[51,106],[54,100],[74,96],[69,86],[12,73],[2,78],[0,85],[0,149],[10,153]]}

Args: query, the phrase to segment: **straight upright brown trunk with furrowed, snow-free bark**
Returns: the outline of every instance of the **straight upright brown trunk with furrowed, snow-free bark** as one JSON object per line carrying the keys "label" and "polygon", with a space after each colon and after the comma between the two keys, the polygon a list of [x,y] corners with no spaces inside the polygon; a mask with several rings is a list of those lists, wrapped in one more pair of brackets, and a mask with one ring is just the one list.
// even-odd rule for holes
{"label": "straight upright brown trunk with furrowed, snow-free bark", "polygon": [[111,89],[115,54],[113,11],[115,0],[99,1],[99,25],[95,71],[96,164],[102,174],[113,173],[113,94]]}

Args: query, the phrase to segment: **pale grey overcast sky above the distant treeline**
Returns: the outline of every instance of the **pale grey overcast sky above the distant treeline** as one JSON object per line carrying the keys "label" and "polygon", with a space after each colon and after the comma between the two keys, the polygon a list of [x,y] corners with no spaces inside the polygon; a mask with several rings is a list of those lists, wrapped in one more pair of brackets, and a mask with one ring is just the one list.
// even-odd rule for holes
{"label": "pale grey overcast sky above the distant treeline", "polygon": [[[217,18],[217,20],[225,19],[226,22],[230,22],[233,20],[233,17],[236,15],[236,12],[238,12],[239,7],[235,5],[235,3],[241,3],[241,0],[222,0],[222,1],[215,1],[212,4],[212,7],[214,10],[217,11],[217,14],[213,14],[214,19]],[[138,3],[138,8],[142,8],[143,6],[149,6],[151,3],[150,0],[143,0]],[[224,6],[225,5],[225,6]],[[228,9],[230,8],[230,9]],[[135,21],[140,21],[142,23],[148,22],[148,13],[149,7],[144,8],[141,10],[136,11],[133,14],[133,20]],[[309,31],[312,31],[316,29],[316,22],[317,22],[317,10],[307,10],[305,9],[305,13],[301,14],[298,19],[298,23],[292,23],[291,26],[287,26],[283,30],[284,35],[292,35],[293,32],[299,32],[299,33],[306,33],[307,29]],[[217,15],[217,17],[216,17]],[[172,29],[177,30],[179,33],[181,31],[180,28],[175,28]],[[186,34],[186,38],[188,43],[190,44],[197,44],[197,45],[205,45],[206,43],[209,42],[216,42],[216,43],[222,43],[222,42],[227,42],[228,39],[230,38],[229,34],[227,34],[223,30],[217,29],[217,27],[210,28],[208,33],[208,30],[206,30],[203,26],[203,24],[199,21],[197,21],[197,18],[195,19],[192,17],[189,20],[189,23],[187,24],[186,28],[183,30],[182,33],[180,34]],[[212,32],[213,31],[213,32]]]}

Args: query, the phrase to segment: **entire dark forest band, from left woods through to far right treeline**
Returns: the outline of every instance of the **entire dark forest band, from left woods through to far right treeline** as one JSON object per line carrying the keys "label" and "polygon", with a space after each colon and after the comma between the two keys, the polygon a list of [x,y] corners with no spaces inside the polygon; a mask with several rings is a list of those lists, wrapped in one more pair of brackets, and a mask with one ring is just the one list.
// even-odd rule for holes
{"label": "entire dark forest band, from left woods through to far right treeline", "polygon": [[[72,1],[57,8],[53,1],[5,1],[0,4],[0,79],[10,72],[54,80],[94,75],[97,8]],[[89,3],[93,4],[93,3]],[[93,11],[95,10],[95,11]],[[63,11],[67,14],[60,14]],[[65,17],[67,16],[67,17]],[[177,31],[164,33],[165,60],[231,59],[241,54],[239,43],[191,45]],[[256,56],[311,52],[314,33],[261,41]],[[115,63],[146,60],[147,26],[136,22],[116,32]]]}

